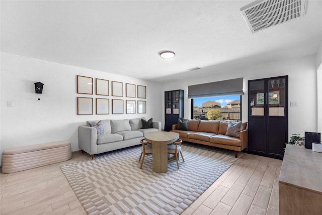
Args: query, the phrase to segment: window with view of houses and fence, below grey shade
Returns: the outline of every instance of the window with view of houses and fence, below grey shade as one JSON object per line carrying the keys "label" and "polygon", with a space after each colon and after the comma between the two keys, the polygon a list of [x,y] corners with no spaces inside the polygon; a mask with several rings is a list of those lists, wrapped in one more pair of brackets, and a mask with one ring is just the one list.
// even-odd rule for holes
{"label": "window with view of houses and fence, below grey shade", "polygon": [[241,95],[192,98],[193,119],[241,121]]}

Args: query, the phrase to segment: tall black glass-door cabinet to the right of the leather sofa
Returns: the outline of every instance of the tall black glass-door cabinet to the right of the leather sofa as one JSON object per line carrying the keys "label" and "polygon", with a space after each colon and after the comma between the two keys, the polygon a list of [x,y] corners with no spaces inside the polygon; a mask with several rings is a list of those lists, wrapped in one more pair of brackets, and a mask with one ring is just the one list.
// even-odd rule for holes
{"label": "tall black glass-door cabinet to the right of the leather sofa", "polygon": [[288,76],[248,81],[249,153],[283,159],[288,142]]}

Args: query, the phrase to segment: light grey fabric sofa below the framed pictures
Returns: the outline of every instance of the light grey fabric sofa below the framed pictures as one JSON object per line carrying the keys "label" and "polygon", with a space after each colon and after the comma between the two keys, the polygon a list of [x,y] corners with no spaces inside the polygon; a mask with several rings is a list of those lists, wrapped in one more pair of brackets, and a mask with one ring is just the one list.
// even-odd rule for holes
{"label": "light grey fabric sofa below the framed pictures", "polygon": [[90,124],[97,124],[98,121],[87,121],[86,125],[78,127],[78,147],[83,151],[94,155],[122,149],[140,144],[144,134],[148,132],[161,131],[161,122],[152,122],[153,128],[141,129],[141,119],[125,120],[102,120],[104,134],[98,135],[97,129]]}

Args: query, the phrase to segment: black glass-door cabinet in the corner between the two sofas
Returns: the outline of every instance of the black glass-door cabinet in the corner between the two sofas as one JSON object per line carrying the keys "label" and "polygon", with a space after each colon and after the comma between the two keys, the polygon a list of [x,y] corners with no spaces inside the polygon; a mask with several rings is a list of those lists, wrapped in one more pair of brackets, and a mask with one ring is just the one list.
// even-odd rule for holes
{"label": "black glass-door cabinet in the corner between the two sofas", "polygon": [[165,91],[165,131],[171,131],[172,125],[184,117],[184,90]]}

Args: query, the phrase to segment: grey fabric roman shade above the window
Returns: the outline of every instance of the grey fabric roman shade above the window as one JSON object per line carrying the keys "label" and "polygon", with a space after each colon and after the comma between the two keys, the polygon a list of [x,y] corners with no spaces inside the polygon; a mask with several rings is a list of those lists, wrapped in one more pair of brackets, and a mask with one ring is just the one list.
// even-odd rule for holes
{"label": "grey fabric roman shade above the window", "polygon": [[235,78],[188,86],[188,98],[243,95],[243,79]]}

